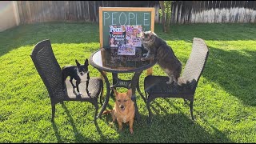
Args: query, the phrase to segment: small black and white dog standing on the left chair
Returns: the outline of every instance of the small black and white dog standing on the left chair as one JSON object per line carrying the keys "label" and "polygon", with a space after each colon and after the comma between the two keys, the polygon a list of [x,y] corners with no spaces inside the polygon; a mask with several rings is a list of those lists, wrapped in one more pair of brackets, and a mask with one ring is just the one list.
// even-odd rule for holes
{"label": "small black and white dog standing on the left chair", "polygon": [[[63,82],[63,90],[65,90],[65,81],[68,76],[70,76],[70,82],[73,88],[77,87],[78,94],[82,94],[79,91],[79,84],[80,82],[86,82],[86,92],[90,95],[88,86],[89,86],[89,70],[88,70],[88,59],[86,58],[85,64],[80,65],[78,60],[75,60],[77,66],[64,66],[62,68],[62,82]],[[74,86],[72,80],[73,78],[76,80],[76,86]]]}

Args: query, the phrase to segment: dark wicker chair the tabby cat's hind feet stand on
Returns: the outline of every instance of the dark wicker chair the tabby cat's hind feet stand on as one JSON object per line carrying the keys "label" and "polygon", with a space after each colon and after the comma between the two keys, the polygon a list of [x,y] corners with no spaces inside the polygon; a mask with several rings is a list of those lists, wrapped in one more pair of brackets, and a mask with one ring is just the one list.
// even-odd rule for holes
{"label": "dark wicker chair the tabby cat's hind feet stand on", "polygon": [[[146,94],[146,106],[149,111],[148,122],[151,122],[152,112],[150,110],[150,102],[155,98],[183,98],[184,101],[190,101],[190,114],[192,120],[193,115],[193,103],[194,93],[198,86],[198,80],[202,74],[202,70],[206,65],[208,58],[208,47],[201,38],[194,38],[192,51],[190,58],[186,62],[186,66],[182,73],[182,79],[186,84],[182,86],[166,84],[169,78],[166,76],[146,76],[144,79],[144,90]],[[148,96],[147,96],[148,94]]]}

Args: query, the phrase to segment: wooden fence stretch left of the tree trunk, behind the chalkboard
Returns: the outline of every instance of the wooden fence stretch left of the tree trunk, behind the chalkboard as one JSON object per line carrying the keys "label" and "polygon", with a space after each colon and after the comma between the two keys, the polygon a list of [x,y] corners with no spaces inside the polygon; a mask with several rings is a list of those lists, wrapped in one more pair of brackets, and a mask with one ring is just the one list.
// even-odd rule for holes
{"label": "wooden fence stretch left of the tree trunk, behind the chalkboard", "polygon": [[18,1],[22,24],[52,21],[98,22],[98,7],[151,7],[151,1]]}

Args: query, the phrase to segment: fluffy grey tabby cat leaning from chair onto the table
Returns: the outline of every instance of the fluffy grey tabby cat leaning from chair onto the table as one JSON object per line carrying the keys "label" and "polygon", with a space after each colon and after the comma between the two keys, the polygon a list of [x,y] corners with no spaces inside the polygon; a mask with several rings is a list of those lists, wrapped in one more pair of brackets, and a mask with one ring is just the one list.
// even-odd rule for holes
{"label": "fluffy grey tabby cat leaning from chair onto the table", "polygon": [[171,84],[174,81],[176,85],[182,85],[180,80],[180,74],[182,72],[182,62],[175,56],[174,51],[167,45],[166,41],[159,38],[157,34],[152,31],[142,32],[141,35],[142,45],[147,50],[146,57],[141,58],[142,61],[156,59],[158,65],[165,71],[170,78],[167,84]]}

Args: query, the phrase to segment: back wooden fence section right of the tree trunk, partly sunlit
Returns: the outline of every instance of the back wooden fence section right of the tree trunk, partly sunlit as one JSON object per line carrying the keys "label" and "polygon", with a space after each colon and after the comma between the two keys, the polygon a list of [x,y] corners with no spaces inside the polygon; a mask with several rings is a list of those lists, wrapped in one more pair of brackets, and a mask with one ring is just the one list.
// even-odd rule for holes
{"label": "back wooden fence section right of the tree trunk, partly sunlit", "polygon": [[171,23],[256,22],[255,1],[174,1]]}

